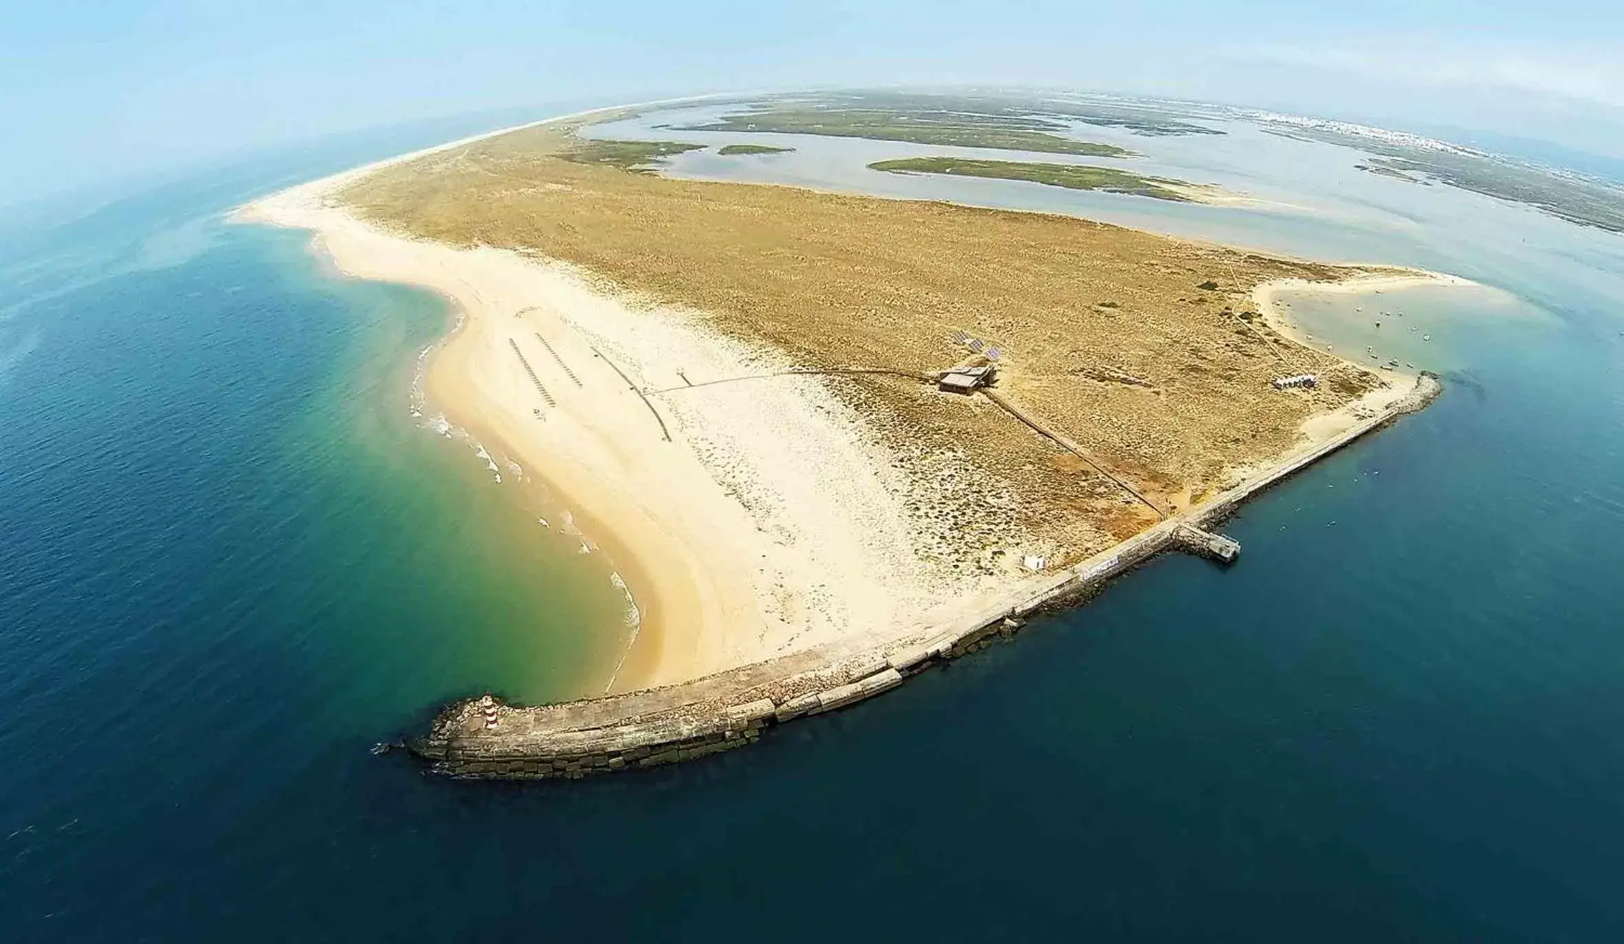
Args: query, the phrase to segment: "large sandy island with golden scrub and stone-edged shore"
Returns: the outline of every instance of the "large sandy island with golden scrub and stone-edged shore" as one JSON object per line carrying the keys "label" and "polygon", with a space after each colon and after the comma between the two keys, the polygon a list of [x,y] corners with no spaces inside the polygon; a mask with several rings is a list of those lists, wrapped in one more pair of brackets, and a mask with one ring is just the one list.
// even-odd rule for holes
{"label": "large sandy island with golden scrub and stone-edged shore", "polygon": [[1439,390],[1299,343],[1272,304],[1272,286],[1431,273],[676,179],[659,162],[702,145],[583,136],[632,114],[430,148],[237,214],[312,231],[346,275],[448,297],[463,317],[427,398],[572,509],[640,614],[603,692],[447,707],[408,744],[438,772],[724,751],[1158,552],[1233,561],[1213,526],[1237,502]]}

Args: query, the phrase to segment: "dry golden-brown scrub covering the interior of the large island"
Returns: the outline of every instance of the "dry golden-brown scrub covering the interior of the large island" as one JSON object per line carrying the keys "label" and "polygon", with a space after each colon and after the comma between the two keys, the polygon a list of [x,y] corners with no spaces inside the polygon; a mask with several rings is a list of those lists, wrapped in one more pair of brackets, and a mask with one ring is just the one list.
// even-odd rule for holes
{"label": "dry golden-brown scrub covering the interior of the large island", "polygon": [[[568,127],[513,132],[387,167],[341,198],[419,237],[575,263],[807,367],[935,372],[971,356],[955,335],[984,340],[1002,351],[999,393],[1163,509],[1286,452],[1306,418],[1380,383],[1249,312],[1262,281],[1353,270],[1067,216],[565,159],[581,146]],[[1330,382],[1270,387],[1309,370]],[[997,565],[991,549],[1020,531],[1064,562],[1155,520],[986,398],[896,377],[830,383],[919,483],[914,512],[942,561]]]}

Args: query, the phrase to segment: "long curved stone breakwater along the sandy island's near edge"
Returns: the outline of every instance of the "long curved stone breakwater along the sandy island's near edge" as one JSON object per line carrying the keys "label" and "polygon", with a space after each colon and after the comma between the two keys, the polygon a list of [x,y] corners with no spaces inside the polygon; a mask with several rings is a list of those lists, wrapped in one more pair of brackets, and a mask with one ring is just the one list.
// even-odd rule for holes
{"label": "long curved stone breakwater along the sandy island's near edge", "polygon": [[1423,374],[1387,409],[1335,439],[1168,518],[1082,564],[1034,578],[1009,598],[952,624],[874,643],[843,640],[689,682],[559,705],[518,707],[492,695],[448,705],[408,747],[430,769],[460,778],[531,780],[653,767],[729,751],[794,718],[887,692],[908,676],[1010,635],[1033,613],[1077,603],[1168,549],[1231,561],[1239,546],[1207,528],[1247,497],[1309,463],[1431,403],[1437,379]]}

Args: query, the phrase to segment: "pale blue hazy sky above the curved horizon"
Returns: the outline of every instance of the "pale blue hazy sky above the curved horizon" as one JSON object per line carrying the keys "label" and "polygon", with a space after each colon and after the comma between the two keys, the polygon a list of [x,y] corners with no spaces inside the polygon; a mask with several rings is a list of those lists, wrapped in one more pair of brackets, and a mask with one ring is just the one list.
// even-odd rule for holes
{"label": "pale blue hazy sky above the curved horizon", "polygon": [[417,119],[807,84],[1147,93],[1624,158],[1616,0],[11,0],[0,21],[0,205]]}

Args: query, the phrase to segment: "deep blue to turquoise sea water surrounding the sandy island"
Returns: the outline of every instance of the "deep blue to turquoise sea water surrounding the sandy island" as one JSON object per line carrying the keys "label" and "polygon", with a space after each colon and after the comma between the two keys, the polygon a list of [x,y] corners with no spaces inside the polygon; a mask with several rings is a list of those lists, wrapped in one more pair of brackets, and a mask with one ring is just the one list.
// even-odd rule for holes
{"label": "deep blue to turquoise sea water surrounding the sandy island", "polygon": [[1088,211],[1492,286],[1384,297],[1419,343],[1294,309],[1444,398],[1249,504],[1231,570],[1158,559],[747,751],[463,785],[369,747],[591,691],[624,601],[411,416],[440,301],[219,214],[474,127],[5,232],[0,938],[1619,938],[1624,239],[1319,145],[1150,154],[1278,145],[1294,208]]}

